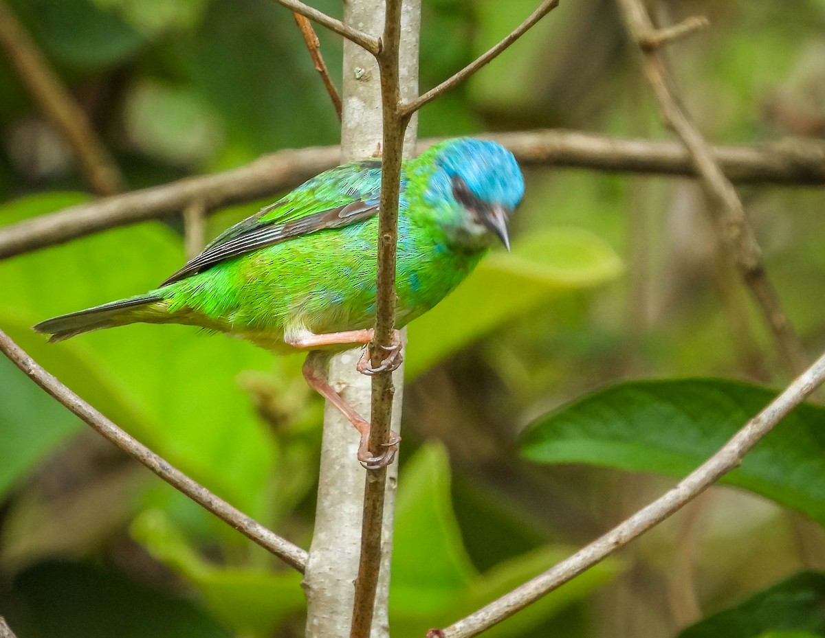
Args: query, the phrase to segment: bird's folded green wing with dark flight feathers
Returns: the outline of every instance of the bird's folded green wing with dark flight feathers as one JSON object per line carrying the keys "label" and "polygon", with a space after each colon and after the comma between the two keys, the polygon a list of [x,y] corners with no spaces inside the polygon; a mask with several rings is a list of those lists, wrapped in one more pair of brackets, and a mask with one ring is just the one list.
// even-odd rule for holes
{"label": "bird's folded green wing with dark flight feathers", "polygon": [[173,284],[221,261],[378,212],[381,162],[355,162],[324,171],[289,195],[228,228],[161,284]]}

